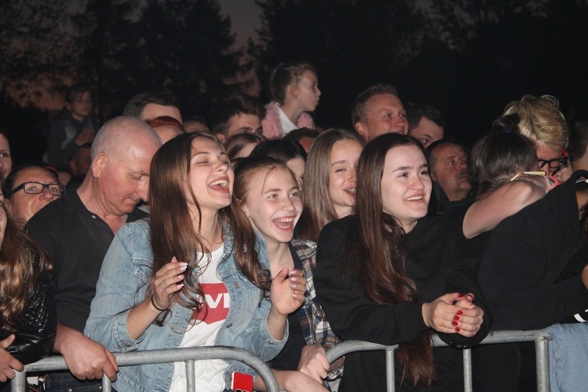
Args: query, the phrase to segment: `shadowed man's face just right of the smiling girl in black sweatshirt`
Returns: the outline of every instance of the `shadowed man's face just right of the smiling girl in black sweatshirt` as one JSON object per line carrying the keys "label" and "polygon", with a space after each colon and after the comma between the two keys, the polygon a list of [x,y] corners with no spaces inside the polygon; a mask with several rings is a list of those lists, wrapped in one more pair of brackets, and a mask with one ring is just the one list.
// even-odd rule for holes
{"label": "shadowed man's face just right of the smiling girl in black sweatshirt", "polygon": [[431,178],[443,188],[449,201],[455,202],[467,196],[471,190],[468,157],[457,144],[442,144],[432,155]]}

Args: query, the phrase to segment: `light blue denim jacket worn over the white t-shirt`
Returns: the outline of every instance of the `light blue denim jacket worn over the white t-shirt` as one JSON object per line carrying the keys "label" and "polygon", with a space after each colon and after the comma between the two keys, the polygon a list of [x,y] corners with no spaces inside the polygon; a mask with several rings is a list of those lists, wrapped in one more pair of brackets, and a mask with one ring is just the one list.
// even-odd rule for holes
{"label": "light blue denim jacket worn over the white t-shirt", "polygon": [[[259,259],[269,268],[266,244],[258,238]],[[92,340],[104,344],[112,352],[134,350],[173,349],[178,347],[188,327],[192,309],[173,304],[163,326],[151,324],[137,339],[129,337],[126,325],[128,311],[145,299],[149,278],[153,270],[153,252],[150,246],[150,227],[140,220],[126,224],[115,236],[100,271],[96,297],[92,300],[90,317],[84,333]],[[224,227],[224,253],[217,272],[228,289],[231,306],[221,326],[216,345],[234,346],[251,351],[268,361],[273,359],[287,339],[275,340],[269,334],[267,317],[269,300],[259,305],[261,291],[239,271],[233,255],[233,235]],[[194,271],[197,274],[197,268]],[[240,362],[227,360],[230,365],[224,373],[227,388],[231,386],[233,371],[254,374]],[[173,364],[122,366],[112,386],[119,392],[168,391]]]}

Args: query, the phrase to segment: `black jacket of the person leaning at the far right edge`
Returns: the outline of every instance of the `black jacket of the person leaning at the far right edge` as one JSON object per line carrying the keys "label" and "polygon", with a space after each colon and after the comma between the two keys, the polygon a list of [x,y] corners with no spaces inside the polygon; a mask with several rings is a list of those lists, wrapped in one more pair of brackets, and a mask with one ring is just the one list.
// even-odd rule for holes
{"label": "black jacket of the person leaning at the far right edge", "polygon": [[576,171],[494,228],[478,275],[494,329],[541,329],[588,308],[579,276],[588,262],[576,201],[580,176],[588,172]]}

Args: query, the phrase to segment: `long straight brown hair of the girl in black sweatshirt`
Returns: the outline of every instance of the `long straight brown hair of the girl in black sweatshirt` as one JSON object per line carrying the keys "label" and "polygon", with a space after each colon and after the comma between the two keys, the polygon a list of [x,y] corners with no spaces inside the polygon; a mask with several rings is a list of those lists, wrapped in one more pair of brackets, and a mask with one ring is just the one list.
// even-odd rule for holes
{"label": "long straight brown hair of the girl in black sweatshirt", "polygon": [[[344,253],[344,271],[358,271],[364,295],[384,305],[419,301],[415,283],[406,275],[404,230],[395,217],[383,212],[384,161],[389,150],[398,146],[415,146],[426,157],[417,139],[395,133],[376,137],[364,147],[356,172],[357,225]],[[409,375],[415,385],[430,385],[435,367],[429,331],[420,332],[411,342],[400,343],[398,359],[402,378]]]}

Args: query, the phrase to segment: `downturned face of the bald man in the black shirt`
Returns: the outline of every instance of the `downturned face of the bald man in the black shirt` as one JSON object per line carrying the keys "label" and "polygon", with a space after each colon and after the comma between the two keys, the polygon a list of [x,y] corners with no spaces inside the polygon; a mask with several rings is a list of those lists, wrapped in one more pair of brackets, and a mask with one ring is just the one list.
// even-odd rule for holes
{"label": "downturned face of the bald man in the black shirt", "polygon": [[111,156],[103,157],[95,176],[99,177],[99,197],[108,213],[126,215],[141,199],[148,201],[151,159],[160,146],[152,138],[137,138],[130,145],[117,148]]}

